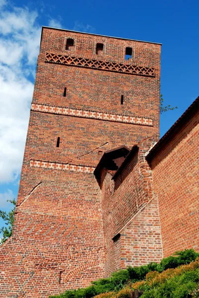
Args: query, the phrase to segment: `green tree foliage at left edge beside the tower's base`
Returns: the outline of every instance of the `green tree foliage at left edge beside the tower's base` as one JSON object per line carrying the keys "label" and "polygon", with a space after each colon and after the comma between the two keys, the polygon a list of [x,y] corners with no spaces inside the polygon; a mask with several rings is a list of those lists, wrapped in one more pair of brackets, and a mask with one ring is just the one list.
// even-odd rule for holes
{"label": "green tree foliage at left edge beside the tower's base", "polygon": [[0,244],[4,243],[12,234],[12,226],[14,222],[14,212],[15,212],[16,201],[15,199],[13,199],[13,200],[7,200],[7,202],[10,202],[11,204],[13,204],[14,208],[9,213],[6,213],[5,211],[0,210],[0,218],[3,219],[6,225],[0,228],[0,233],[2,233]]}

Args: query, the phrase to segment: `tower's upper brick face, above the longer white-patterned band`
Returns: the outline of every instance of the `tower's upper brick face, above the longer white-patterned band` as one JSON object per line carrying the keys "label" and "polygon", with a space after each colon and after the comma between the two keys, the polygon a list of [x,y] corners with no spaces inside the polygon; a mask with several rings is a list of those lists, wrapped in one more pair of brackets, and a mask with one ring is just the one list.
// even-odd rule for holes
{"label": "tower's upper brick face, above the longer white-patterned band", "polygon": [[[67,37],[74,39],[74,47],[69,51],[65,50]],[[95,54],[97,42],[104,43],[100,55]],[[125,60],[127,46],[134,51],[134,59],[130,61]],[[159,134],[160,48],[158,44],[44,28],[33,102],[151,118],[154,128],[150,133]],[[155,77],[44,63],[46,53],[152,67]],[[65,87],[67,92],[63,97]],[[121,95],[124,95],[123,105]],[[137,138],[134,135],[133,139]]]}

